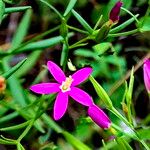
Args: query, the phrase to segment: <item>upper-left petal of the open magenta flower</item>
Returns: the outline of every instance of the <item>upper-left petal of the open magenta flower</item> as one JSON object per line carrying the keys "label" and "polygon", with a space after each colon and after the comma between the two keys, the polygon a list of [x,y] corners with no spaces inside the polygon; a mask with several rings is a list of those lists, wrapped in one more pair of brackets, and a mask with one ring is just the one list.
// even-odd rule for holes
{"label": "upper-left petal of the open magenta flower", "polygon": [[47,67],[57,82],[62,83],[62,81],[65,81],[66,76],[65,76],[64,72],[54,62],[48,61]]}

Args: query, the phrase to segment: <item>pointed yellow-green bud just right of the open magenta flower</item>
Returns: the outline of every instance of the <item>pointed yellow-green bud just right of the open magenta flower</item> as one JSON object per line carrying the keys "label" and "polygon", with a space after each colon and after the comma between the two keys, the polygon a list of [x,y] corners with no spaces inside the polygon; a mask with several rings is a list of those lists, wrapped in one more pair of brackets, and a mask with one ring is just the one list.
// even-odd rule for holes
{"label": "pointed yellow-green bud just right of the open magenta flower", "polygon": [[113,105],[112,105],[111,99],[109,98],[106,91],[101,87],[101,85],[92,76],[90,76],[89,79],[92,82],[94,89],[97,95],[100,97],[100,99],[106,104],[108,108],[112,108]]}

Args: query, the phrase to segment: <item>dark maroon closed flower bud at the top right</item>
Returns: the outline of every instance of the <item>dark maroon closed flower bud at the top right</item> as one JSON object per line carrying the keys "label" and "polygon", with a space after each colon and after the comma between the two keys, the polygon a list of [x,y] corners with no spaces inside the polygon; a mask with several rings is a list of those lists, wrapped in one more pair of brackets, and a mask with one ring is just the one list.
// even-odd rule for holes
{"label": "dark maroon closed flower bud at the top right", "polygon": [[109,19],[113,23],[116,23],[119,21],[119,13],[120,13],[120,8],[121,8],[122,4],[123,3],[121,1],[118,1],[110,12]]}

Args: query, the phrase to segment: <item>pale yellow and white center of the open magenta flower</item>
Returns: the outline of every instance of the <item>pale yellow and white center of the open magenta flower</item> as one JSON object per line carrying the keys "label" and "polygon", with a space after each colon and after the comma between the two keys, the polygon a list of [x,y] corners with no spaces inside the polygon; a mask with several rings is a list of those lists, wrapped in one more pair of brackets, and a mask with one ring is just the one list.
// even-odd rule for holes
{"label": "pale yellow and white center of the open magenta flower", "polygon": [[61,91],[64,93],[64,92],[67,92],[67,91],[70,91],[70,86],[73,82],[73,79],[71,76],[67,77],[65,81],[62,82],[61,86],[59,87],[61,89]]}

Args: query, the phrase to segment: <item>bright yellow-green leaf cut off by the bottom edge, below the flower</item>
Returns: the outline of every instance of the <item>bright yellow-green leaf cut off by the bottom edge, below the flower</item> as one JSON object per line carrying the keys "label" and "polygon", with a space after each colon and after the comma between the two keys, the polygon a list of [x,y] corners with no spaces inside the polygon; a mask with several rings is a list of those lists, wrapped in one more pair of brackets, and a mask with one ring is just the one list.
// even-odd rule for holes
{"label": "bright yellow-green leaf cut off by the bottom edge, below the flower", "polygon": [[72,144],[77,150],[91,150],[87,145],[79,141],[77,138],[75,138],[72,134],[68,133],[67,131],[62,132],[64,137],[67,139],[67,141]]}

